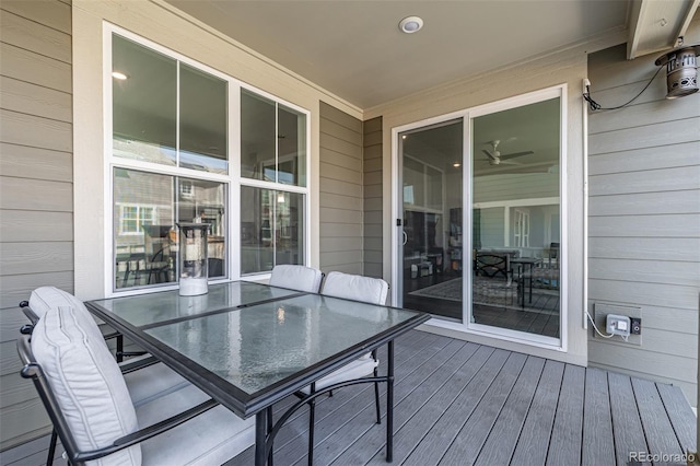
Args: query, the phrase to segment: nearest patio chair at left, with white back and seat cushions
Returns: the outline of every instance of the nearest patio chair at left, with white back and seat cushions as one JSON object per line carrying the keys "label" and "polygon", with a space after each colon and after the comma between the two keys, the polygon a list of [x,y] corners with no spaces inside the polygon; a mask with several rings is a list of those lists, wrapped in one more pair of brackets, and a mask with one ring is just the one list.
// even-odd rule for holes
{"label": "nearest patio chair at left, with white back and seat cushions", "polygon": [[85,317],[80,307],[51,307],[18,340],[21,374],[34,382],[70,464],[222,464],[254,443],[254,419],[189,383],[133,403]]}

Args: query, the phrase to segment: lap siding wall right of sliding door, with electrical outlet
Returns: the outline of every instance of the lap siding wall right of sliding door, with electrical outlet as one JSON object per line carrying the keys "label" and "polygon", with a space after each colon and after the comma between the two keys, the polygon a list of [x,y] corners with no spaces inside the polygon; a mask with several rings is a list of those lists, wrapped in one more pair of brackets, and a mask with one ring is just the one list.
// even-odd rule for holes
{"label": "lap siding wall right of sliding door, with electrical outlet", "polygon": [[[700,22],[689,28],[700,37]],[[592,95],[632,98],[656,57],[625,46],[593,54]],[[595,303],[639,306],[642,340],[590,337],[591,365],[673,383],[695,405],[700,293],[700,95],[667,101],[665,69],[631,105],[588,120],[590,292]]]}

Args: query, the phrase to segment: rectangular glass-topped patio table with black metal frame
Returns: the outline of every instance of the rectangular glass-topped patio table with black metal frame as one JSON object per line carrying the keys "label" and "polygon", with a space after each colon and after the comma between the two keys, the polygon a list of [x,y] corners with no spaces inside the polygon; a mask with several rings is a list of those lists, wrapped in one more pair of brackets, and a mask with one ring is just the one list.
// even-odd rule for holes
{"label": "rectangular glass-topped patio table with black metal frame", "polygon": [[[199,296],[177,290],[86,302],[88,308],[242,418],[256,416],[256,466],[281,424],[325,387],[292,405],[276,424],[271,407],[387,343],[386,459],[393,453],[394,339],[423,313],[235,281]],[[342,384],[340,384],[342,385]],[[347,383],[345,383],[347,385]]]}

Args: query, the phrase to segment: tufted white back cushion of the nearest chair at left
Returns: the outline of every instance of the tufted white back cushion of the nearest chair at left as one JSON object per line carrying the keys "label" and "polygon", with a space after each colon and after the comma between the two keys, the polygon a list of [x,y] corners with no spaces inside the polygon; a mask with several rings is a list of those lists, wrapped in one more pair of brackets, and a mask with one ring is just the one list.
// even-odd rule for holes
{"label": "tufted white back cushion of the nearest chair at left", "polygon": [[[73,307],[50,307],[34,327],[32,351],[42,365],[80,450],[95,450],[138,429],[121,371]],[[140,465],[135,445],[89,465]]]}

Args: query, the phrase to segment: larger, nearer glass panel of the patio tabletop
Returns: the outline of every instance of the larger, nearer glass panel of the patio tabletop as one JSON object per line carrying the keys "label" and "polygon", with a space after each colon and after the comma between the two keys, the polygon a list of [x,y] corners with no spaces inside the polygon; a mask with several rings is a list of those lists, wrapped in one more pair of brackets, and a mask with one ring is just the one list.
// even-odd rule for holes
{"label": "larger, nearer glass panel of the patio tabletop", "polygon": [[145,331],[248,395],[334,356],[361,351],[421,313],[305,294]]}

